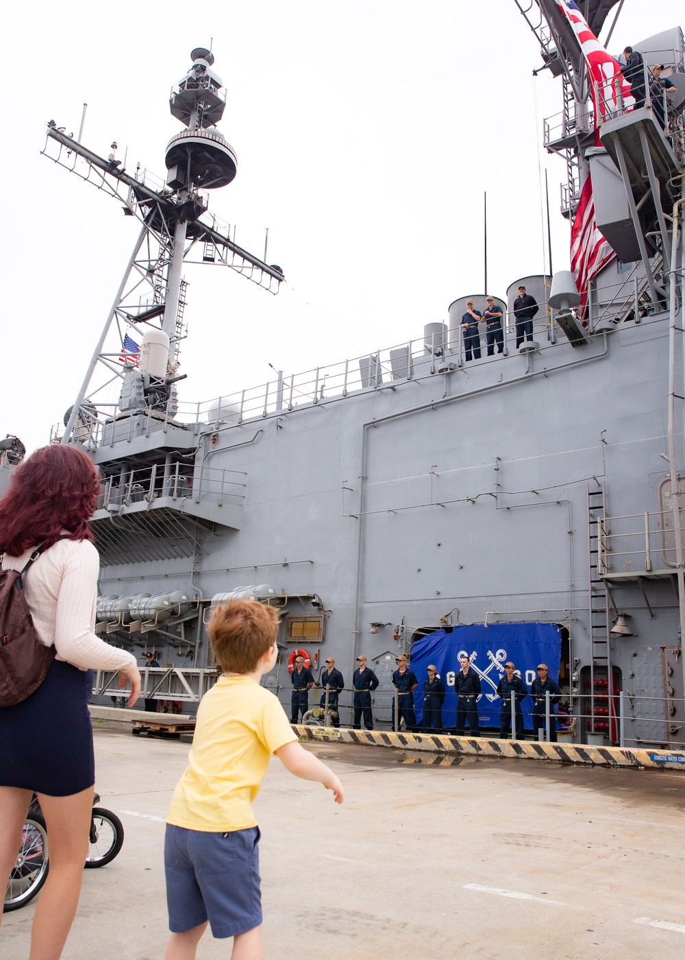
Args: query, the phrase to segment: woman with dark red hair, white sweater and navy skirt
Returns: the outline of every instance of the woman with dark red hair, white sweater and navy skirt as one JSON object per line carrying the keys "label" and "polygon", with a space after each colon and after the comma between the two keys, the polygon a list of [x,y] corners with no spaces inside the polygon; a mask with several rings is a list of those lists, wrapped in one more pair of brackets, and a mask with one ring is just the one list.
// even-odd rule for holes
{"label": "woman with dark red hair, white sweater and navy skirt", "polygon": [[75,446],[44,446],[16,469],[0,500],[4,569],[21,570],[40,643],[55,648],[45,680],[20,703],[0,708],[0,888],[10,876],[32,793],[50,837],[50,873],[35,909],[32,960],[58,960],[76,913],[88,851],[95,770],[88,700],[92,669],[130,678],[132,654],[93,633],[100,559],[88,530],[98,472]]}

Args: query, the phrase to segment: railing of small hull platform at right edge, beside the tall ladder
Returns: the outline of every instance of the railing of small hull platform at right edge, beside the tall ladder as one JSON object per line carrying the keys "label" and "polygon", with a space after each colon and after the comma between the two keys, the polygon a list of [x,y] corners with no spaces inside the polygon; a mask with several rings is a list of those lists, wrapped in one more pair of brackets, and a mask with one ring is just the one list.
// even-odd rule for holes
{"label": "railing of small hull platform at right edge, beside the tall ladder", "polygon": [[673,511],[602,516],[598,522],[600,576],[653,576],[658,570],[675,572]]}

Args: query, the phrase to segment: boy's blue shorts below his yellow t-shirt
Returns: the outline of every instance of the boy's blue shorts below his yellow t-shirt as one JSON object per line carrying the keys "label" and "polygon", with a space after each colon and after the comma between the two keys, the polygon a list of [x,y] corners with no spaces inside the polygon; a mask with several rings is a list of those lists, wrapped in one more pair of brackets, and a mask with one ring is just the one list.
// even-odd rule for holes
{"label": "boy's blue shorts below his yellow t-shirt", "polygon": [[262,923],[258,827],[207,833],[167,824],[164,873],[169,929],[185,933],[209,921],[215,937]]}

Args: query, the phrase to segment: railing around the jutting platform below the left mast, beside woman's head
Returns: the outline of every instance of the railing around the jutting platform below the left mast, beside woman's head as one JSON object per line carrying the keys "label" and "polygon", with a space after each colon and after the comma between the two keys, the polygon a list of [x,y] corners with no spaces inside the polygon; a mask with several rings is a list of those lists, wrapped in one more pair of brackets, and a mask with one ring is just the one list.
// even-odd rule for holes
{"label": "railing around the jutting platform below the left mast, beside woman's head", "polygon": [[99,510],[116,511],[133,503],[152,503],[158,497],[192,499],[196,503],[237,505],[245,497],[245,473],[204,467],[196,475],[193,464],[177,462],[167,468],[125,469],[109,476],[98,499]]}

